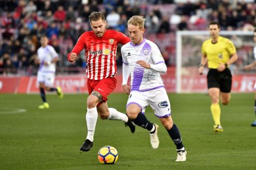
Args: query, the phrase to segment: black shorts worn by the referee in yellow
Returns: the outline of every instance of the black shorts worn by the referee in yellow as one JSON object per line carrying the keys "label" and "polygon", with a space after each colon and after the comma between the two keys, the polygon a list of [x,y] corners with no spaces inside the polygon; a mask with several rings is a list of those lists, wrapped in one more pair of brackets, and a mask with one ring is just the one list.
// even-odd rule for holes
{"label": "black shorts worn by the referee in yellow", "polygon": [[232,87],[232,75],[229,68],[219,72],[217,69],[211,69],[207,74],[208,89],[217,87],[221,92],[231,92]]}

